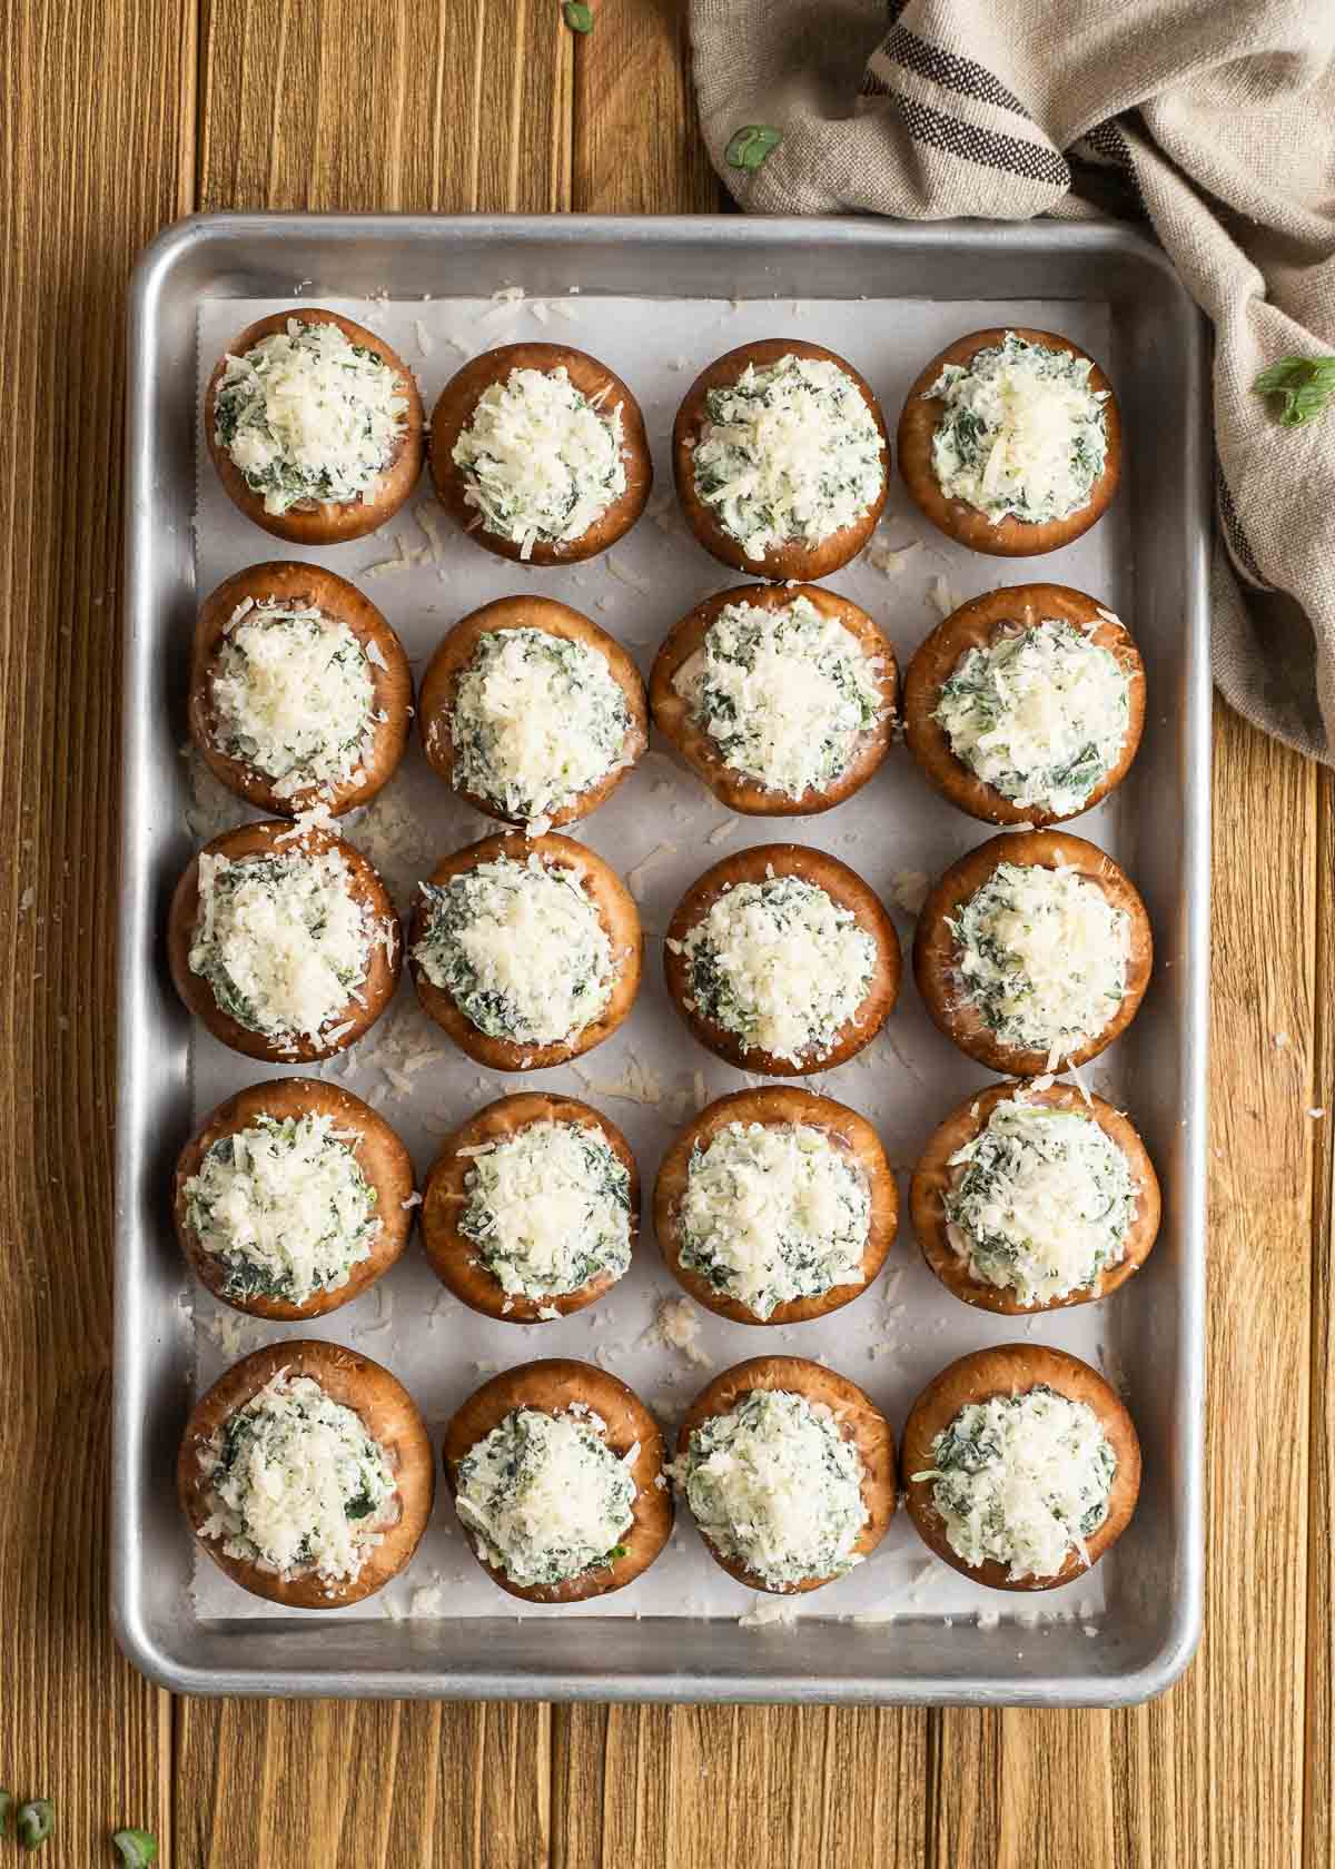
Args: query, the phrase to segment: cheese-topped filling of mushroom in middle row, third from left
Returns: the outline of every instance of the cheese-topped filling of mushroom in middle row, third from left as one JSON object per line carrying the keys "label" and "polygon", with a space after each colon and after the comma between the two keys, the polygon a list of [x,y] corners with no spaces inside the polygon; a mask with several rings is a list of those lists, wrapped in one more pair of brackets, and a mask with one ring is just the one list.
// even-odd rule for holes
{"label": "cheese-topped filling of mushroom in middle row, third from left", "polygon": [[690,1006],[748,1050],[819,1063],[868,996],[877,944],[825,890],[800,877],[727,890],[668,944],[690,968]]}

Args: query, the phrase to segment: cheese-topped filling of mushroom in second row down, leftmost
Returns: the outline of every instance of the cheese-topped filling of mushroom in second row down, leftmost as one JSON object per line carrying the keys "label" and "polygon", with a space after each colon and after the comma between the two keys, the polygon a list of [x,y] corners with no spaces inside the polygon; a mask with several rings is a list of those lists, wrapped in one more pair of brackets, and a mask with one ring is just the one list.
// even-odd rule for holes
{"label": "cheese-topped filling of mushroom in second row down, leftmost", "polygon": [[247,598],[232,611],[209,682],[215,744],[273,781],[279,798],[350,779],[370,755],[376,684],[335,617]]}

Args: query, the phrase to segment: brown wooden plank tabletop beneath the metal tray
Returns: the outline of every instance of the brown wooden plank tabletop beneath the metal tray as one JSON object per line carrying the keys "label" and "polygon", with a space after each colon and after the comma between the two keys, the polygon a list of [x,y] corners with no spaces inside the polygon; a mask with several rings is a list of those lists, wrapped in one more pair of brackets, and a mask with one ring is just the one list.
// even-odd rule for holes
{"label": "brown wooden plank tabletop beneath the metal tray", "polygon": [[[1331,1845],[1331,774],[1215,738],[1210,1581],[1131,1712],[174,1701],[107,1624],[122,305],[193,209],[716,211],[673,0],[0,7],[0,1783],[45,1862],[1288,1869]],[[1275,1034],[1290,1043],[1277,1045]]]}

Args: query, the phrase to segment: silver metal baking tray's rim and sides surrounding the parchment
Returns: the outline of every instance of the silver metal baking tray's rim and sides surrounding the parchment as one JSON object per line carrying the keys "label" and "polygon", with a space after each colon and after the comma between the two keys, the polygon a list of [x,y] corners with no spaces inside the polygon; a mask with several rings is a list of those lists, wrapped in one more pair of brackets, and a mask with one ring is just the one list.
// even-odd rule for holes
{"label": "silver metal baking tray's rim and sides surrounding the parchment", "polygon": [[[531,295],[574,288],[589,312],[600,295],[724,310],[866,299],[868,318],[894,318],[894,301],[1109,308],[1133,544],[1124,591],[1152,693],[1126,817],[1157,946],[1152,1002],[1122,1045],[1165,1224],[1146,1271],[1107,1306],[1146,1458],[1135,1523],[1103,1566],[1098,1643],[1077,1622],[1017,1652],[1013,1626],[914,1617],[869,1639],[838,1619],[755,1632],[686,1615],[251,1620],[194,1607],[174,1497],[193,1333],[165,1196],[191,1123],[193,1034],[163,927],[191,854],[178,748],[196,600],[196,308],[286,297],[295,280],[309,299],[439,299],[524,280]],[[595,321],[585,329],[574,342],[596,350]],[[183,1693],[1118,1705],[1167,1688],[1202,1600],[1210,663],[1202,327],[1163,254],[1120,226],[1055,222],[196,217],[159,235],[135,273],[127,477],[112,1609],[129,1658]],[[1060,576],[1049,564],[997,581]]]}

